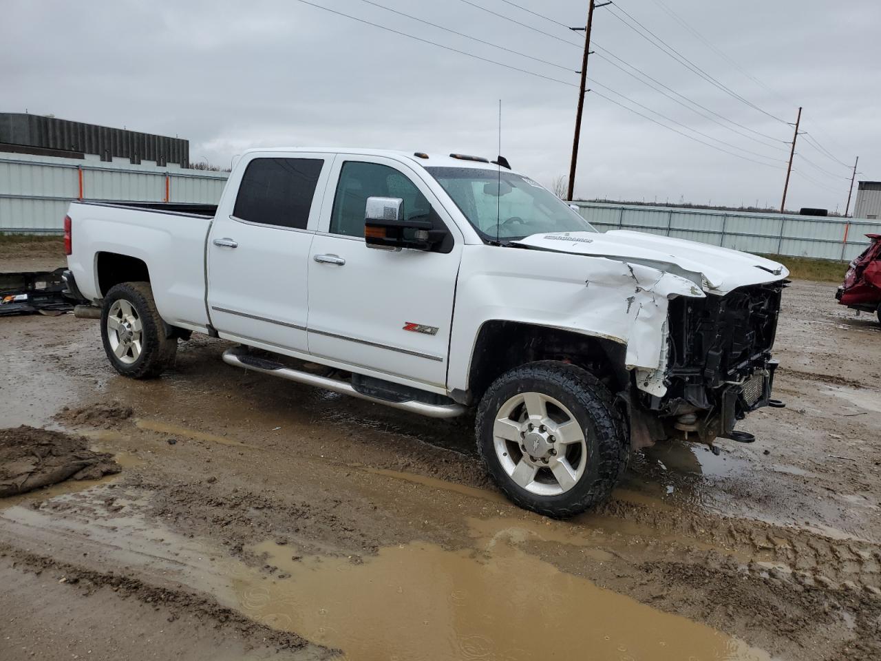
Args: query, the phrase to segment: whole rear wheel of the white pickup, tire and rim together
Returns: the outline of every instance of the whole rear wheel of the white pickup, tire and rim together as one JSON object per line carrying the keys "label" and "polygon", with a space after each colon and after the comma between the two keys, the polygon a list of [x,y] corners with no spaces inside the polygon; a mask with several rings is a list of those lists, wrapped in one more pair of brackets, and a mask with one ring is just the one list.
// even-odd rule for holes
{"label": "whole rear wheel of the white pickup, tire and rim together", "polygon": [[167,338],[150,283],[111,287],[101,308],[104,352],[117,372],[135,379],[159,376],[174,365],[177,338]]}

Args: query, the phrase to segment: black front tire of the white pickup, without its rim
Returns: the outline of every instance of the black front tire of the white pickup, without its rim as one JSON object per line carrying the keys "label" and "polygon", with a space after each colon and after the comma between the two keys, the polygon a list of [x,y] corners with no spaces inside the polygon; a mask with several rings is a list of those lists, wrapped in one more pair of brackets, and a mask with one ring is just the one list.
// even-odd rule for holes
{"label": "black front tire of the white pickup, without its rim", "polygon": [[[530,391],[566,405],[584,432],[587,467],[575,486],[563,494],[532,494],[516,484],[493,447],[492,428],[500,407],[510,397]],[[480,457],[500,490],[523,509],[554,518],[574,516],[609,498],[630,459],[626,426],[609,389],[587,370],[557,360],[528,363],[496,379],[480,400],[475,433]]]}

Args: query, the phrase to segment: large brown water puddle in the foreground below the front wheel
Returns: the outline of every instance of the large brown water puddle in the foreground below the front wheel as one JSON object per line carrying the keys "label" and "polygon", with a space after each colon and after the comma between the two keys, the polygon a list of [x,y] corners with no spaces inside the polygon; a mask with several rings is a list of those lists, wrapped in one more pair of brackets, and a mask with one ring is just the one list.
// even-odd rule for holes
{"label": "large brown water puddle in the foreground below the front wheel", "polygon": [[279,577],[270,584],[234,577],[233,589],[249,617],[339,648],[350,661],[770,658],[561,572],[512,545],[504,526],[481,527],[476,550],[411,542],[363,563],[300,558],[295,547],[267,541],[250,550],[265,553]]}

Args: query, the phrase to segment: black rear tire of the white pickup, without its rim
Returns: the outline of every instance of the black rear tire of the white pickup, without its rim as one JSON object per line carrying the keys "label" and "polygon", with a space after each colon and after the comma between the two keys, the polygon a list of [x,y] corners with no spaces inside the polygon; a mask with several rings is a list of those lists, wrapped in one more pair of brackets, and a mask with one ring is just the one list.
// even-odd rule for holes
{"label": "black rear tire of the white pickup, without its rim", "polygon": [[[141,320],[141,353],[137,360],[127,364],[116,358],[107,335],[107,316],[115,301],[129,301]],[[156,309],[149,282],[122,282],[110,288],[101,306],[101,342],[107,359],[115,370],[133,379],[159,376],[174,366],[177,338],[166,337],[166,325]]]}

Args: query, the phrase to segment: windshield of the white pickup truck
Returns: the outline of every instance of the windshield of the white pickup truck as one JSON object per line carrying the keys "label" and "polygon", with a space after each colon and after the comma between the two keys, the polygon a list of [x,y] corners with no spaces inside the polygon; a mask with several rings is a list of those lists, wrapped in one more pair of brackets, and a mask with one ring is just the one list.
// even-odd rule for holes
{"label": "windshield of the white pickup truck", "polygon": [[531,179],[477,167],[426,167],[487,241],[542,232],[596,232],[550,190]]}

